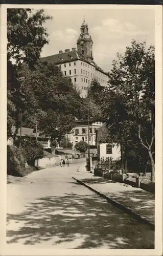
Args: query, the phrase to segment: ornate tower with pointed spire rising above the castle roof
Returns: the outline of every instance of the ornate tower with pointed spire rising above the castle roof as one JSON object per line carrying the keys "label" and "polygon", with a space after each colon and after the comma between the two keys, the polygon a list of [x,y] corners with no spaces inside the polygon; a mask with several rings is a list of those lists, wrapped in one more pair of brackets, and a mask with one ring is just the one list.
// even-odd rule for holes
{"label": "ornate tower with pointed spire rising above the castle roof", "polygon": [[93,60],[92,55],[93,41],[88,33],[88,25],[85,23],[85,19],[80,28],[80,36],[77,41],[78,51],[81,53],[84,59],[89,61]]}

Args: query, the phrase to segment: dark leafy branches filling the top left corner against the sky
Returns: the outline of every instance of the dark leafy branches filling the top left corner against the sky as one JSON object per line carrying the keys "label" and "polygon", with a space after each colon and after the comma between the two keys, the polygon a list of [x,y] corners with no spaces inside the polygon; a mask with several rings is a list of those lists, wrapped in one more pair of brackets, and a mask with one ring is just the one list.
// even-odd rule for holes
{"label": "dark leafy branches filling the top left corner against the sky", "polygon": [[43,24],[50,18],[43,9],[7,9],[8,58],[14,59],[16,64],[26,62],[33,68],[43,46],[49,43]]}

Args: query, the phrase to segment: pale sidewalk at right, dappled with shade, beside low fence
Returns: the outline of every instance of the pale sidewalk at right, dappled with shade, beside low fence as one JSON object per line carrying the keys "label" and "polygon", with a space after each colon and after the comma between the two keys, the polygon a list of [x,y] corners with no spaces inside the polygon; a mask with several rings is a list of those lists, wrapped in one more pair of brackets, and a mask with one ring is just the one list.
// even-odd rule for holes
{"label": "pale sidewalk at right, dappled with shade, beside low fence", "polygon": [[80,168],[74,178],[80,180],[92,189],[111,200],[130,208],[135,214],[142,216],[148,222],[154,224],[155,199],[154,194],[135,188],[130,185],[95,177],[84,168]]}

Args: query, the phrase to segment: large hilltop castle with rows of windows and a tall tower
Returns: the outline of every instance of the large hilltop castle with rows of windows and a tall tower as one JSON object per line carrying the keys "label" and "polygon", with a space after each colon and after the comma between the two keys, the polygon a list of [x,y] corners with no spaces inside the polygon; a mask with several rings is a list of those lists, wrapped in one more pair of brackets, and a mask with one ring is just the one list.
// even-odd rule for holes
{"label": "large hilltop castle with rows of windows and a tall tower", "polygon": [[51,60],[60,67],[63,74],[72,79],[72,83],[80,92],[81,97],[86,97],[88,87],[93,79],[101,86],[106,86],[108,74],[97,66],[93,57],[93,41],[88,32],[85,19],[80,28],[77,40],[77,50],[66,49],[58,54],[41,58],[41,61]]}

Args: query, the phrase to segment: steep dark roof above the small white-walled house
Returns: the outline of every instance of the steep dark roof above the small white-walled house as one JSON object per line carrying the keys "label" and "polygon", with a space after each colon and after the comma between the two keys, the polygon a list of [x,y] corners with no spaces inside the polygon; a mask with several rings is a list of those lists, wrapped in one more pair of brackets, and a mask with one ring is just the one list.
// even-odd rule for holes
{"label": "steep dark roof above the small white-walled house", "polygon": [[97,143],[113,143],[112,139],[110,138],[109,130],[106,127],[106,124],[103,124],[97,130],[96,141]]}

